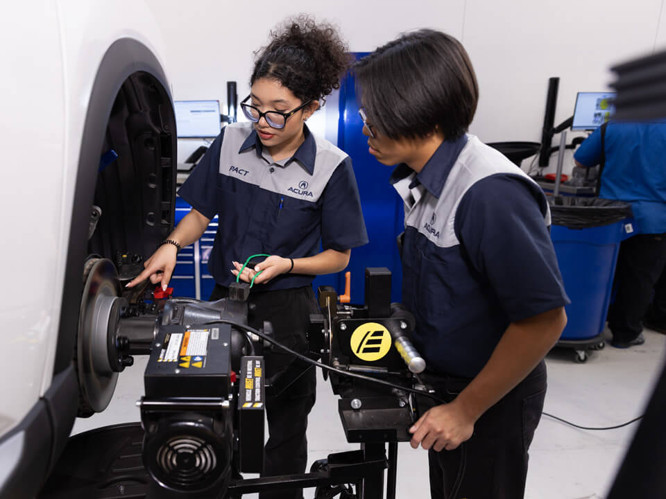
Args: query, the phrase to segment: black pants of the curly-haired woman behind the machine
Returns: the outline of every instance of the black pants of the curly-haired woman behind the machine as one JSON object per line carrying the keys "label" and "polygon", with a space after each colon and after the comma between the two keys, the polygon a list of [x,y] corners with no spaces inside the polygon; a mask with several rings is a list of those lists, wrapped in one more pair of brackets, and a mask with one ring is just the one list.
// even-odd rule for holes
{"label": "black pants of the curly-haired woman behind the machine", "polygon": [[[211,301],[228,296],[228,288],[216,286]],[[287,347],[307,351],[309,315],[318,308],[311,286],[264,292],[250,292],[248,304],[254,305],[250,313],[250,326],[259,329],[264,321],[273,324],[276,340]],[[315,401],[316,377],[314,367],[302,373],[299,369],[287,371],[293,356],[277,347],[264,352],[266,381],[275,380],[287,388],[280,394],[271,394],[267,387],[266,419],[268,441],[264,448],[264,472],[262,476],[304,473],[307,466],[307,416]],[[285,374],[286,373],[286,374]],[[285,376],[280,377],[280,375]],[[295,378],[293,383],[285,377]],[[277,383],[276,383],[277,384]],[[262,492],[260,499],[300,499],[302,489]]]}

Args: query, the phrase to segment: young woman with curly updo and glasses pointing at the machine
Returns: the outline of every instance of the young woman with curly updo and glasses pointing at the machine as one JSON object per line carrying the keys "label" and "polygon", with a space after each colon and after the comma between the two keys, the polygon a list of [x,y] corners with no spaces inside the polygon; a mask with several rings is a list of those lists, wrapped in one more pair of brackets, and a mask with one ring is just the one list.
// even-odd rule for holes
{"label": "young woman with curly updo and glasses pointing at the machine", "polygon": [[[166,287],[179,247],[194,243],[219,214],[208,264],[216,280],[210,299],[228,296],[234,280],[253,283],[250,326],[270,321],[277,340],[306,351],[309,314],[317,310],[312,279],[343,270],[351,248],[368,242],[350,158],[305,125],[339,88],[349,63],[347,46],[330,24],[300,16],[271,32],[241,103],[249,123],[228,125],[212,143],[179,191],[191,212],[130,286],[150,278]],[[265,358],[269,383],[293,362],[278,349]],[[264,475],[305,471],[314,399],[314,369],[267,396]],[[302,497],[302,490],[280,497]]]}

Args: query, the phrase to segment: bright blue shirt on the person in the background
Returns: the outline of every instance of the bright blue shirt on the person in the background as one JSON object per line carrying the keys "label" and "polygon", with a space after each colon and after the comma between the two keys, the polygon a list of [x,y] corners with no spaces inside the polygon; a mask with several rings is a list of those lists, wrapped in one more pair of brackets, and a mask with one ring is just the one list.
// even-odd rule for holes
{"label": "bright blue shirt on the person in the background", "polygon": [[[636,234],[666,232],[666,119],[610,122],[604,137],[599,197],[631,204]],[[601,161],[601,127],[574,154],[582,166]]]}

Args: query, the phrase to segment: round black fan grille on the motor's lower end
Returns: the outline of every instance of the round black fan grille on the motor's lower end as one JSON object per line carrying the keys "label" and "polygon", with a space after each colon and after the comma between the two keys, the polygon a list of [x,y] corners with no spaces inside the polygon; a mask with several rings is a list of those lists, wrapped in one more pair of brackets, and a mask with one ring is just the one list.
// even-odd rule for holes
{"label": "round black fan grille on the motor's lower end", "polygon": [[157,466],[170,482],[187,487],[207,480],[217,459],[212,446],[203,439],[177,435],[157,451]]}

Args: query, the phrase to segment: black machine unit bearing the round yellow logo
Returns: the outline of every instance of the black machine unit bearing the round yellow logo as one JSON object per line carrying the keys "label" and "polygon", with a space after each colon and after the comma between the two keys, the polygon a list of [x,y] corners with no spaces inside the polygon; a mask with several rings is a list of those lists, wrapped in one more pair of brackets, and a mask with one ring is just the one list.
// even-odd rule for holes
{"label": "black machine unit bearing the round yellow logo", "polygon": [[338,410],[347,440],[409,441],[416,403],[413,394],[400,386],[422,387],[416,375],[425,362],[411,347],[413,316],[400,304],[391,304],[391,272],[366,269],[362,306],[338,304],[330,287],[319,288],[319,305],[322,313],[310,318],[311,350],[335,369],[395,385],[330,373],[333,392],[341,397]]}

